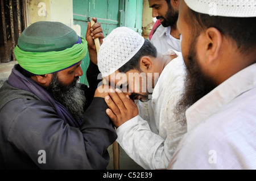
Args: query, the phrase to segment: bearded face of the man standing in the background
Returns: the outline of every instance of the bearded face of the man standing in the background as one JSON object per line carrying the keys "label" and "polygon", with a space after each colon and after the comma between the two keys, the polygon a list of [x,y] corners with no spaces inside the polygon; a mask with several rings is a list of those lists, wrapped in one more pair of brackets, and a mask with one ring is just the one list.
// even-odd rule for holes
{"label": "bearded face of the man standing in the background", "polygon": [[148,0],[152,8],[153,18],[160,19],[163,27],[173,26],[176,24],[178,11],[175,11],[171,5],[168,5],[166,0]]}

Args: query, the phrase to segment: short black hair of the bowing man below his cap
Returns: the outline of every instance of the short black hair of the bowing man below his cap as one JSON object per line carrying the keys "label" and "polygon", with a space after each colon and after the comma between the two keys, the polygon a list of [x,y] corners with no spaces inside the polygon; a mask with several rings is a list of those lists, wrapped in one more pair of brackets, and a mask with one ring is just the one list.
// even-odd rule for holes
{"label": "short black hair of the bowing man below his cap", "polygon": [[141,71],[141,69],[139,68],[139,60],[141,60],[143,56],[151,56],[156,58],[158,52],[155,46],[152,45],[147,39],[144,40],[145,41],[141,49],[139,49],[139,51],[133,56],[133,58],[131,58],[125,65],[118,69],[119,72],[126,73],[127,71],[133,69]]}

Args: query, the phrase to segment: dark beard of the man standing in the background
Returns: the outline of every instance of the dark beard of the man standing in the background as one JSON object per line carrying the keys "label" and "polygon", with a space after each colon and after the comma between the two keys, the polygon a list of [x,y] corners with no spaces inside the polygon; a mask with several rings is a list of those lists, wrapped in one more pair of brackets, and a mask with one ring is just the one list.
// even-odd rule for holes
{"label": "dark beard of the man standing in the background", "polygon": [[163,18],[162,25],[163,27],[174,26],[176,25],[179,12],[175,12],[174,8],[171,5],[168,5],[168,11],[166,12],[166,18],[162,16],[156,17],[156,19]]}

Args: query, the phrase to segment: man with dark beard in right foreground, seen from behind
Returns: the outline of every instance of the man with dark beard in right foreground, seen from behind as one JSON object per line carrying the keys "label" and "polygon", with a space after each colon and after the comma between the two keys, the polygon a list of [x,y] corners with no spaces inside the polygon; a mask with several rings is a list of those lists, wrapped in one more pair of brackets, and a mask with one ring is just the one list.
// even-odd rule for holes
{"label": "man with dark beard in right foreground, seen from behind", "polygon": [[188,132],[168,169],[256,169],[256,1],[180,2]]}

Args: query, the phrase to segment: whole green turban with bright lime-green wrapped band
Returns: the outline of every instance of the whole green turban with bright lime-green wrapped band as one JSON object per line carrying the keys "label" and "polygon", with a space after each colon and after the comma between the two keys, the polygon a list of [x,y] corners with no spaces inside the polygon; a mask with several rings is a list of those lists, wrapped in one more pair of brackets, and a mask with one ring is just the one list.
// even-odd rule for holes
{"label": "whole green turban with bright lime-green wrapped band", "polygon": [[87,42],[60,22],[36,22],[20,35],[14,54],[19,65],[36,75],[54,73],[79,63]]}

